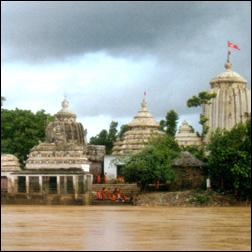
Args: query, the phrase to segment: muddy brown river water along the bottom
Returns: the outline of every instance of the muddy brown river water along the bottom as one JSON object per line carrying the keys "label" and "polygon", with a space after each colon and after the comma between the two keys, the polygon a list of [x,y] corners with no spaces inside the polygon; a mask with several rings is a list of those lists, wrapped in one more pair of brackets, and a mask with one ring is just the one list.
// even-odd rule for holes
{"label": "muddy brown river water along the bottom", "polygon": [[249,207],[2,206],[1,250],[250,250]]}

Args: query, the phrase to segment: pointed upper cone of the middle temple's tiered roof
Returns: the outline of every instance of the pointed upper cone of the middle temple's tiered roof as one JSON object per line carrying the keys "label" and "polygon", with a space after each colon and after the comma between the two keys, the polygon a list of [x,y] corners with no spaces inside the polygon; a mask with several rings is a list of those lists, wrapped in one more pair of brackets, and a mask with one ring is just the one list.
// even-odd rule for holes
{"label": "pointed upper cone of the middle temple's tiered roof", "polygon": [[159,128],[159,124],[153,118],[152,114],[147,109],[147,103],[145,98],[141,103],[141,108],[133,118],[133,120],[128,124],[129,127],[154,127]]}

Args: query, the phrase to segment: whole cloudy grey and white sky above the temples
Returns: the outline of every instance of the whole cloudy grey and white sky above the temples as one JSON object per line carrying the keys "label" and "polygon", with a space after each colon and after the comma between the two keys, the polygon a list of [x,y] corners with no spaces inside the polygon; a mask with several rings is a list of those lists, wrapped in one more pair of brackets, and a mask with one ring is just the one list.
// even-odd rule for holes
{"label": "whole cloudy grey and white sky above the temples", "polygon": [[251,87],[250,2],[1,2],[2,95],[6,108],[56,113],[63,95],[88,129],[127,123],[147,92],[157,120],[186,107],[224,71],[227,41],[234,71]]}

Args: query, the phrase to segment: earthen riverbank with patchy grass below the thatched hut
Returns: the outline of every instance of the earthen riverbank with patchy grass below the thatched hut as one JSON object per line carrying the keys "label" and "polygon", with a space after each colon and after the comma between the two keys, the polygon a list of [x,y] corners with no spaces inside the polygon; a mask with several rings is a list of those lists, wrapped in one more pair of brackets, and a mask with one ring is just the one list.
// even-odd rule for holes
{"label": "earthen riverbank with patchy grass below the thatched hut", "polygon": [[214,191],[147,192],[134,198],[136,206],[251,206],[250,201],[238,201],[234,195]]}

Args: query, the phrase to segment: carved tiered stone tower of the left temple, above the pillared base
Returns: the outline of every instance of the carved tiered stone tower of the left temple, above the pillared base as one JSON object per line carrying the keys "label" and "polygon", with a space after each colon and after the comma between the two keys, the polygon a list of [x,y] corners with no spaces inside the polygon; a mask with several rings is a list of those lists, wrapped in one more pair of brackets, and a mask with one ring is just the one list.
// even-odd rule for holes
{"label": "carved tiered stone tower of the left temple, above the pillared base", "polygon": [[64,99],[55,120],[46,127],[45,142],[34,146],[26,162],[26,169],[72,169],[89,164],[86,130],[76,122],[76,115],[69,111]]}

